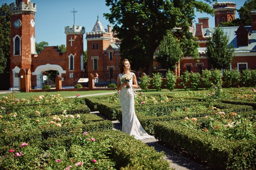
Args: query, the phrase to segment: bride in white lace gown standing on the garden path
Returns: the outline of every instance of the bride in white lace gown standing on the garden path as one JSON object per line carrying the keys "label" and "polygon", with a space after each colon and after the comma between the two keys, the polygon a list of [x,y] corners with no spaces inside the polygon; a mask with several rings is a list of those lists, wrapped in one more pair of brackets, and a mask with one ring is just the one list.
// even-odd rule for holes
{"label": "bride in white lace gown standing on the garden path", "polygon": [[[117,76],[117,90],[120,90],[119,101],[122,110],[122,132],[133,135],[136,139],[142,140],[154,138],[147,134],[141,126],[134,109],[134,94],[133,89],[138,88],[136,76],[130,70],[130,62],[124,59],[120,62],[120,72]],[[120,79],[125,74],[131,75],[132,79],[129,82],[123,82]],[[132,82],[134,84],[132,84]],[[129,88],[127,88],[127,86]]]}

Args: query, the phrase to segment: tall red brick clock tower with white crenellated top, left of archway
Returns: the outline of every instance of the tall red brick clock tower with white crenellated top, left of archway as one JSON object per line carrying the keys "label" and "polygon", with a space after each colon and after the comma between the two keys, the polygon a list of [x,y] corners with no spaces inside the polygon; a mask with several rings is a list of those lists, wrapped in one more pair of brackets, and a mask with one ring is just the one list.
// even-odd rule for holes
{"label": "tall red brick clock tower with white crenellated top, left of archway", "polygon": [[36,4],[30,0],[16,0],[10,4],[11,54],[10,86],[18,87],[21,68],[31,69],[31,57],[35,54],[35,13]]}

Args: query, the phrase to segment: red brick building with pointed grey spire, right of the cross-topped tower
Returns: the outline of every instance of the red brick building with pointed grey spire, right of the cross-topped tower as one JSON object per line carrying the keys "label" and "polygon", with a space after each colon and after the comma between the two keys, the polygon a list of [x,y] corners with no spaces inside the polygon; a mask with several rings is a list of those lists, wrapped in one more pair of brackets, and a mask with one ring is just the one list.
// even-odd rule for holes
{"label": "red brick building with pointed grey spire, right of the cross-topped tower", "polygon": [[[87,74],[97,73],[99,82],[115,82],[120,73],[120,40],[111,31],[111,26],[108,25],[108,29],[105,29],[98,17],[92,31],[86,33],[86,40]],[[96,82],[96,85],[99,82]]]}

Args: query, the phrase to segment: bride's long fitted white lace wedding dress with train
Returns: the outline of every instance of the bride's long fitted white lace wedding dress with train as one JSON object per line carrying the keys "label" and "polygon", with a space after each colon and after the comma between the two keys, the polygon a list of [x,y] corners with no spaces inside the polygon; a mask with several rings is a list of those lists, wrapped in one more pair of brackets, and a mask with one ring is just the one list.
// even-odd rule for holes
{"label": "bride's long fitted white lace wedding dress with train", "polygon": [[[134,73],[131,73],[132,77],[133,74]],[[122,76],[123,74],[119,74],[120,79]],[[121,84],[122,83],[123,82],[121,81]],[[129,83],[132,84],[132,79]],[[131,136],[133,135],[138,140],[154,138],[153,136],[147,134],[135,115],[134,92],[131,87],[127,89],[125,86],[120,90],[119,101],[122,110],[122,132],[128,133]]]}

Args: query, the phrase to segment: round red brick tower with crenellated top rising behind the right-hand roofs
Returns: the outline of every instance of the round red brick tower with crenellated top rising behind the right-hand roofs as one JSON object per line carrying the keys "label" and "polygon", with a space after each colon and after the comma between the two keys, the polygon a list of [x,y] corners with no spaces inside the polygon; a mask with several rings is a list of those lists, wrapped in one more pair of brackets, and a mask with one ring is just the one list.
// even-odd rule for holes
{"label": "round red brick tower with crenellated top rising behind the right-hand roofs", "polygon": [[236,4],[234,2],[217,2],[213,4],[215,10],[215,26],[235,19]]}

